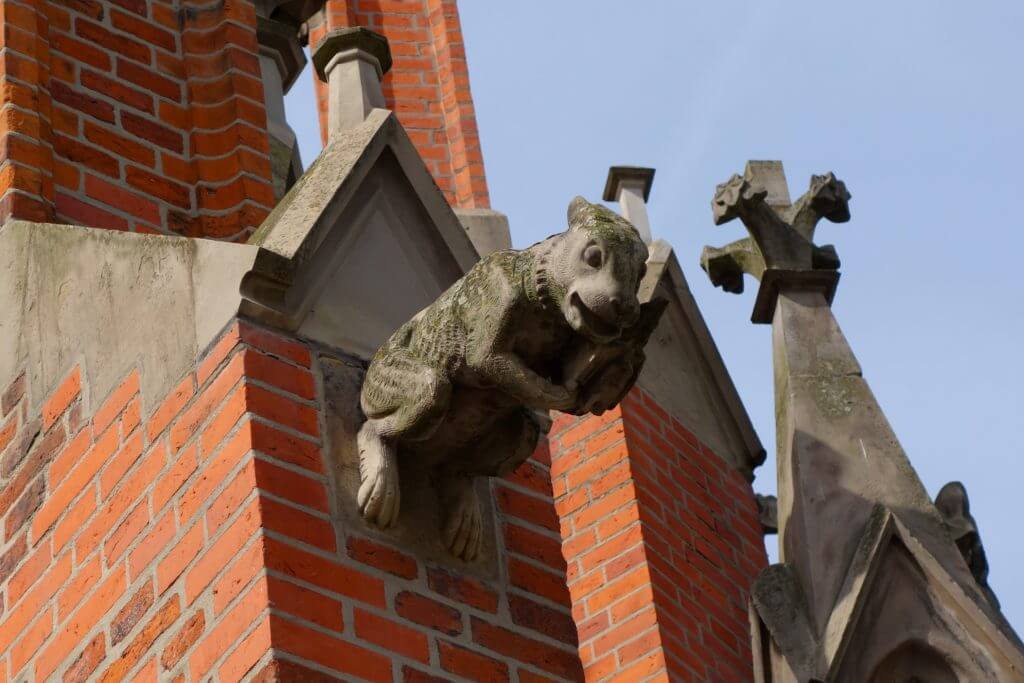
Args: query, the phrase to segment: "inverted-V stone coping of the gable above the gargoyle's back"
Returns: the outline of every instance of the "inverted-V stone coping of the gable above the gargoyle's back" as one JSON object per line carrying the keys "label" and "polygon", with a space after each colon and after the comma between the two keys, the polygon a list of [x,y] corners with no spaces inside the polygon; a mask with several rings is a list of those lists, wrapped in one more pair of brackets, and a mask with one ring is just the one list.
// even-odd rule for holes
{"label": "inverted-V stone coping of the gable above the gargoyle's back", "polygon": [[360,199],[360,189],[366,195],[368,176],[387,158],[396,162],[438,248],[456,265],[452,282],[472,267],[477,252],[409,135],[392,112],[375,109],[362,124],[331,137],[253,234],[249,243],[260,251],[242,283],[243,313],[289,331],[299,329],[316,296],[330,286],[325,266],[351,237],[346,236],[350,225],[340,217],[359,209],[353,200]]}

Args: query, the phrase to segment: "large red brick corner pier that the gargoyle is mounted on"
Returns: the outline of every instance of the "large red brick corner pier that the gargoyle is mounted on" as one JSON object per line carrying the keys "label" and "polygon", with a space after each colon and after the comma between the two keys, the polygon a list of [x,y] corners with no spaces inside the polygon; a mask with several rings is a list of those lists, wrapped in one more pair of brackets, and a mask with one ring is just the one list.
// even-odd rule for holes
{"label": "large red brick corner pier that the gargoyle is mounted on", "polygon": [[14,380],[0,680],[579,680],[546,450],[496,483],[502,578],[473,579],[332,515],[315,374],[234,324],[148,414],[137,372],[96,397],[75,369],[39,414]]}

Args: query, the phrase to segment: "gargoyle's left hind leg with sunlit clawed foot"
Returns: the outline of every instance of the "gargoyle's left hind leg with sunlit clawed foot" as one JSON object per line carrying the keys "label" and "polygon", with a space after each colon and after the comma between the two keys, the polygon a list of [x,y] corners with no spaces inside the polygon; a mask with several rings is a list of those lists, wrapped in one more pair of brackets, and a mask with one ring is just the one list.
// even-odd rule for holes
{"label": "gargoyle's left hind leg with sunlit clawed foot", "polygon": [[429,437],[443,420],[452,384],[406,349],[392,349],[364,380],[362,410],[371,416],[359,429],[359,490],[362,518],[387,528],[398,519],[401,490],[398,444]]}

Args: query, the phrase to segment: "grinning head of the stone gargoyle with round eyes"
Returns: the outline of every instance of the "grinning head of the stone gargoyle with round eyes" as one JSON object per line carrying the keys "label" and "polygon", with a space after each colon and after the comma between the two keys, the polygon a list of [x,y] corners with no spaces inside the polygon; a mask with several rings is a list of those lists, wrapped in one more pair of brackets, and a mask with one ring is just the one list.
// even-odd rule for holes
{"label": "grinning head of the stone gargoyle with round eyes", "polygon": [[569,204],[568,222],[548,259],[549,286],[569,327],[607,343],[640,314],[647,246],[628,220],[582,197]]}

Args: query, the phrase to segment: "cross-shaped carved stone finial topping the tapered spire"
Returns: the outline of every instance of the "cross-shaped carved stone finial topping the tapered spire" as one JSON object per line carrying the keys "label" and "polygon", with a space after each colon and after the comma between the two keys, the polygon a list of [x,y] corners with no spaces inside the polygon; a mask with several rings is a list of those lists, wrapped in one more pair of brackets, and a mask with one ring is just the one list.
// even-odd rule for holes
{"label": "cross-shaped carved stone finial topping the tapered spire", "polygon": [[721,249],[705,247],[700,267],[716,287],[743,291],[743,274],[761,281],[752,319],[770,323],[783,284],[818,290],[831,301],[839,282],[839,256],[830,245],[814,244],[814,228],[826,218],[850,219],[850,193],[833,173],[811,176],[810,188],[796,204],[780,162],[749,162],[742,176],[718,185],[712,200],[715,224],[739,218],[751,237]]}

